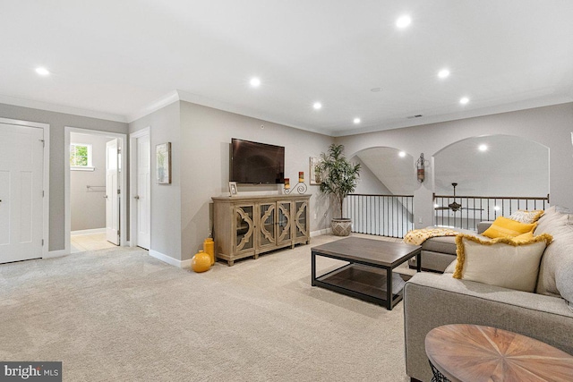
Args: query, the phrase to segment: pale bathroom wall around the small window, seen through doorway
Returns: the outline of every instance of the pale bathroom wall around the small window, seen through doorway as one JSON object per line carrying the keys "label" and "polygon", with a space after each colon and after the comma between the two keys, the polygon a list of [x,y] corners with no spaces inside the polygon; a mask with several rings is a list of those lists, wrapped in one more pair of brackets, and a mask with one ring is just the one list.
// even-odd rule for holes
{"label": "pale bathroom wall around the small window, seen through doorway", "polygon": [[[106,142],[103,135],[70,133],[70,143],[91,145],[94,171],[70,171],[72,231],[106,227]],[[88,189],[86,186],[98,186]]]}

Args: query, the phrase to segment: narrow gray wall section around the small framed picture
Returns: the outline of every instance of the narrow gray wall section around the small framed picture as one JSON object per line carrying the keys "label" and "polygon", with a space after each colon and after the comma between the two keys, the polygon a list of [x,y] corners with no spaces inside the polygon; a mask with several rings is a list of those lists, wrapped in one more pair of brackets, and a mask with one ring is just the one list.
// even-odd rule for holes
{"label": "narrow gray wall section around the small framed picture", "polygon": [[[181,156],[182,151],[188,149],[181,140],[179,120],[179,102],[175,102],[129,124],[129,132],[150,127],[150,250],[156,250],[178,260],[181,259]],[[171,142],[172,181],[171,184],[157,184],[155,147],[165,142]]]}

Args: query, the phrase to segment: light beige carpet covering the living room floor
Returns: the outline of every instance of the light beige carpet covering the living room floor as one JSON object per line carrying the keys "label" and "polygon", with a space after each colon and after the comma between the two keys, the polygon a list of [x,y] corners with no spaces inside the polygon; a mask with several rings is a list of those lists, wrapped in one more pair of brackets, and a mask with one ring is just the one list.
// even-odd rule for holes
{"label": "light beige carpet covering the living room floor", "polygon": [[0,265],[0,360],[63,361],[66,381],[406,381],[402,303],[310,285],[311,247],[337,239],[202,274],[125,248]]}

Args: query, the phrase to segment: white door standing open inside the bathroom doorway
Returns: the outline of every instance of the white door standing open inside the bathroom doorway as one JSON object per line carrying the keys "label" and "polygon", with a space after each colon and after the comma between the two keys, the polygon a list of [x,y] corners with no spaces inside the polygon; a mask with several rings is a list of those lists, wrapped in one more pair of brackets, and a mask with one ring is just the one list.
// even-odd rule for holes
{"label": "white door standing open inside the bathroom doorway", "polygon": [[106,143],[106,240],[119,245],[119,183],[117,139]]}

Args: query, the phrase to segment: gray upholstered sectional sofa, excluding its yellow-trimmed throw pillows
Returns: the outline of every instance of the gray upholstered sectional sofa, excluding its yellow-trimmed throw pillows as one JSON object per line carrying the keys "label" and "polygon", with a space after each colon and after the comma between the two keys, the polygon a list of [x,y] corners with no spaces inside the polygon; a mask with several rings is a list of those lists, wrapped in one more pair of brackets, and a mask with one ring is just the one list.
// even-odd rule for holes
{"label": "gray upholstered sectional sofa, excluding its yellow-trimmed throw pillows", "polygon": [[406,373],[412,380],[432,379],[425,335],[447,324],[499,327],[573,354],[573,216],[550,208],[535,228],[535,235],[541,233],[552,234],[553,242],[543,252],[535,293],[456,279],[452,267],[406,282]]}

